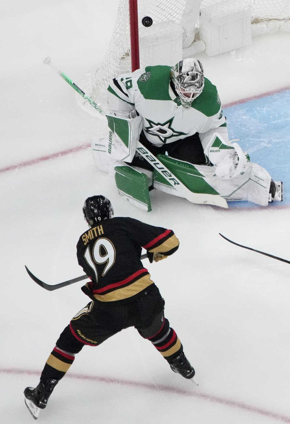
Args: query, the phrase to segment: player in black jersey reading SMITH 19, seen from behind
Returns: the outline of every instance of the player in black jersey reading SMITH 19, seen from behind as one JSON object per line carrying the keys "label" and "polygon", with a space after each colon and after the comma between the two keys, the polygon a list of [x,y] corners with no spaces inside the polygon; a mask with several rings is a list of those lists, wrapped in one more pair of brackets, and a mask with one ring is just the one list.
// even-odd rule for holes
{"label": "player in black jersey reading SMITH 19, seen from behind", "polygon": [[194,368],[164,317],[164,300],[140,259],[142,248],[150,263],[172,255],[179,246],[174,232],[132,218],[113,218],[111,202],[101,195],[87,198],[83,212],[90,228],[79,238],[77,258],[91,280],[82,287],[91,301],[59,336],[37,387],[24,391],[35,419],[84,345],[98,346],[131,326],[151,341],[174,372],[194,381]]}

